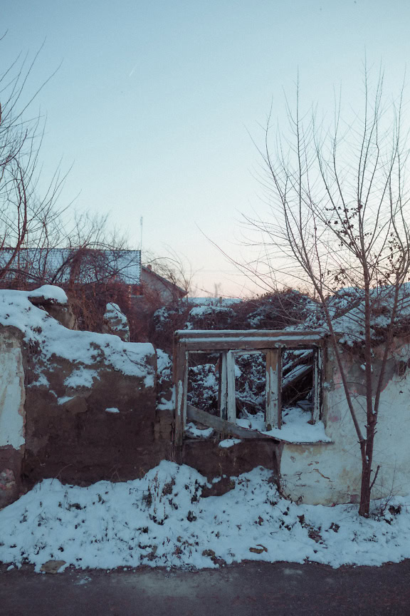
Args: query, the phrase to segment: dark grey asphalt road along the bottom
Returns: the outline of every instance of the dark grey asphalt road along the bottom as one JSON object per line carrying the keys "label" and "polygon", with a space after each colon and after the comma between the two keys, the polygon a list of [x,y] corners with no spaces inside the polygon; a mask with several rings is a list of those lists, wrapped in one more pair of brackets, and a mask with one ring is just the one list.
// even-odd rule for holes
{"label": "dark grey asphalt road along the bottom", "polygon": [[38,574],[0,565],[1,616],[410,616],[410,560],[379,568],[241,563]]}

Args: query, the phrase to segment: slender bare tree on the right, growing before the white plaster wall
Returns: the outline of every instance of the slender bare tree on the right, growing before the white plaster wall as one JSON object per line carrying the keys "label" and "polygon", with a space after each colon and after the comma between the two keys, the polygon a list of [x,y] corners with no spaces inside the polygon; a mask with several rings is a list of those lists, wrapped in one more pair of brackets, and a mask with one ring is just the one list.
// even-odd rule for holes
{"label": "slender bare tree on the right, growing before the white plaster wall", "polygon": [[[273,144],[268,118],[264,146],[258,149],[270,217],[246,219],[263,236],[258,242],[266,258],[258,266],[263,263],[266,269],[256,274],[265,280],[272,274],[275,281],[308,282],[320,303],[359,441],[363,516],[369,515],[379,471],[372,468],[374,436],[387,359],[409,305],[404,283],[410,268],[403,90],[388,102],[382,73],[374,88],[369,83],[365,68],[362,108],[346,121],[337,103],[330,128],[325,120],[318,123],[317,112],[301,113],[299,86],[294,108],[286,103],[290,130],[278,131]],[[329,297],[346,286],[344,307],[336,312]],[[335,319],[341,314],[345,322],[352,319],[352,344],[362,354],[364,426],[342,361],[340,321]],[[376,347],[382,349],[382,361],[373,371]]]}

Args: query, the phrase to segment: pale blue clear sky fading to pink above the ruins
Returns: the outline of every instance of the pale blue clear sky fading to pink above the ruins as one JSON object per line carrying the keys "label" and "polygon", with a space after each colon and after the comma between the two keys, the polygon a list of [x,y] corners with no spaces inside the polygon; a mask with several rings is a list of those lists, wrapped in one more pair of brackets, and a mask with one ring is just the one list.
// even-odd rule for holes
{"label": "pale blue clear sky fading to pink above the ruins", "polygon": [[[109,214],[131,248],[175,253],[194,294],[261,292],[224,256],[258,258],[243,215],[269,216],[257,145],[270,107],[353,105],[367,58],[396,92],[410,57],[406,0],[14,0],[0,11],[0,73],[41,48],[25,96],[46,116],[41,182]],[[220,250],[219,250],[220,249]],[[221,252],[222,251],[222,252]]]}

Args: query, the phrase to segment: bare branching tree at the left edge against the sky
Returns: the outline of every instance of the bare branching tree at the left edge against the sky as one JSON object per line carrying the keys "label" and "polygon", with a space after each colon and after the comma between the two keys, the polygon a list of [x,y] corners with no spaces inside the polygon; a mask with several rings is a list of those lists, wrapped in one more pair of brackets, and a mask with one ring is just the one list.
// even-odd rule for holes
{"label": "bare branching tree at the left edge against the sky", "polygon": [[[0,41],[3,39],[4,36]],[[36,92],[26,95],[38,53],[31,62],[28,56],[19,56],[0,73],[0,252],[9,249],[1,260],[0,279],[18,260],[23,245],[40,245],[44,241],[48,227],[65,209],[56,206],[65,179],[59,168],[43,195],[38,196],[38,156],[44,123],[41,116],[31,117],[28,113],[36,95],[52,77]]]}

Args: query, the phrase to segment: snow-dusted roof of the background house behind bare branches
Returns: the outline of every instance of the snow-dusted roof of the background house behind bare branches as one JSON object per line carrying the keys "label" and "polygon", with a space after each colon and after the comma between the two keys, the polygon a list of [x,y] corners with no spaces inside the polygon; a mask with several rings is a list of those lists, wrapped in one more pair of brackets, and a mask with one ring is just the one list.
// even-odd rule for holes
{"label": "snow-dusted roof of the background house behind bare branches", "polygon": [[[0,267],[6,265],[11,250],[0,252]],[[125,284],[140,284],[141,251],[22,248],[6,272],[6,279],[13,279],[16,274],[34,282],[41,279],[56,284],[68,282],[70,278],[84,283],[115,279]]]}

